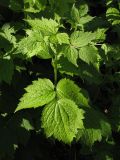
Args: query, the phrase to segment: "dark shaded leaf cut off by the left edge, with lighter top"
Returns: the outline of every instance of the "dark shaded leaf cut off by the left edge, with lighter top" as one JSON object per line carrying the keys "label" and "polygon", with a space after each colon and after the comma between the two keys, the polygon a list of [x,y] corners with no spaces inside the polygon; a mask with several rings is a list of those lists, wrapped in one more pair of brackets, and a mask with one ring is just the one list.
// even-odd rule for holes
{"label": "dark shaded leaf cut off by the left edge, with lighter top", "polygon": [[10,59],[10,57],[0,59],[0,82],[4,81],[10,84],[13,72],[14,65],[12,59]]}

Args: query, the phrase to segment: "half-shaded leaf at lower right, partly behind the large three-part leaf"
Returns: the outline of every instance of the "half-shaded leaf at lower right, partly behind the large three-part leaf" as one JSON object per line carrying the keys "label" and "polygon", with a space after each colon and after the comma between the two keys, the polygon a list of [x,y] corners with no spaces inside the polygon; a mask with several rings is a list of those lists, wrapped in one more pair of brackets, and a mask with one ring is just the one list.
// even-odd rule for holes
{"label": "half-shaded leaf at lower right, partly behind the large three-part leaf", "polygon": [[79,130],[77,139],[82,143],[92,146],[94,142],[101,141],[102,137],[108,138],[111,135],[111,126],[107,118],[100,111],[92,108],[85,108],[85,129]]}

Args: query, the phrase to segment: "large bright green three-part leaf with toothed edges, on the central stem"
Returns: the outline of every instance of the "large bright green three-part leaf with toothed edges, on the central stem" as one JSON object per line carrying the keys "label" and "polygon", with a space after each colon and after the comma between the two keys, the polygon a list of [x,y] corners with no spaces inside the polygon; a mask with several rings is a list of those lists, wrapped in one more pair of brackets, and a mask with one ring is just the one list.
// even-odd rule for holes
{"label": "large bright green three-part leaf with toothed edges, on the central stem", "polygon": [[82,90],[69,79],[60,80],[56,91],[49,79],[33,81],[25,90],[16,111],[46,105],[41,119],[45,134],[71,143],[77,130],[84,128],[84,111],[78,105],[88,106],[88,99]]}

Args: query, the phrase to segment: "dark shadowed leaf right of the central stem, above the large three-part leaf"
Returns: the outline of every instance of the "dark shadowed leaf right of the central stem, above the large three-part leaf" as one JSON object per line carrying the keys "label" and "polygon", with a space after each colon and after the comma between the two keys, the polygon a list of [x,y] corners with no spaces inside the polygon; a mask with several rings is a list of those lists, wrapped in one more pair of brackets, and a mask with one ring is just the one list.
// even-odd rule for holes
{"label": "dark shadowed leaf right of the central stem, above the large three-part leaf", "polygon": [[[89,84],[100,84],[103,80],[103,77],[96,66],[92,64],[87,64],[82,60],[79,60],[80,63],[78,67],[73,65],[68,61],[67,58],[60,56],[58,59],[58,69],[61,73],[70,75],[70,76],[79,76],[84,81],[87,81]],[[96,64],[95,64],[96,65]]]}

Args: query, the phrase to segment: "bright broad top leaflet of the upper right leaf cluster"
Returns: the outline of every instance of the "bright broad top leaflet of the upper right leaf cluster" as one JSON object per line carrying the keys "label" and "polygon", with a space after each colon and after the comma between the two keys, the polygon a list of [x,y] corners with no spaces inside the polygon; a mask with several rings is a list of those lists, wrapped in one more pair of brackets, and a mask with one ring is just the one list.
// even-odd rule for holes
{"label": "bright broad top leaflet of the upper right leaf cluster", "polygon": [[76,48],[86,46],[94,39],[94,33],[83,31],[73,32],[70,37],[71,44]]}

